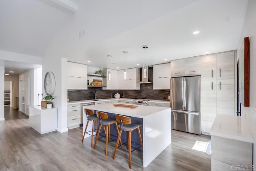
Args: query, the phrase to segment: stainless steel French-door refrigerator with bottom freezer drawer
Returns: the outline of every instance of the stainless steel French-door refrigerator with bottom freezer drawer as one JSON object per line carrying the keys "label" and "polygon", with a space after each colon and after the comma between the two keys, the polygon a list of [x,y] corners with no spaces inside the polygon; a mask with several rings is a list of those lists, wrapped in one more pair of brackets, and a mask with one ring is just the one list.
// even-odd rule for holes
{"label": "stainless steel French-door refrigerator with bottom freezer drawer", "polygon": [[172,129],[201,134],[201,77],[171,78]]}

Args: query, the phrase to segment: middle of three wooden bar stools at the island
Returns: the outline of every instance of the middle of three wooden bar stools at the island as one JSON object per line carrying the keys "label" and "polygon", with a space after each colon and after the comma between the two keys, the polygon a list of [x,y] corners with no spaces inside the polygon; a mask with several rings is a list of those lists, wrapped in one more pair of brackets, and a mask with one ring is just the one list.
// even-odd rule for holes
{"label": "middle of three wooden bar stools at the island", "polygon": [[95,149],[95,147],[96,147],[96,144],[97,144],[97,141],[98,141],[98,138],[99,138],[99,135],[100,135],[100,129],[101,129],[102,125],[103,125],[104,132],[105,132],[105,135],[106,135],[106,151],[105,151],[105,155],[108,155],[108,142],[110,141],[110,125],[115,123],[116,124],[116,131],[118,132],[117,123],[116,123],[115,119],[108,118],[108,114],[107,113],[104,113],[104,112],[101,112],[101,111],[97,111],[96,113],[97,113],[98,118],[100,118],[100,127],[99,127],[99,129],[97,131],[96,141],[94,143],[93,149]]}

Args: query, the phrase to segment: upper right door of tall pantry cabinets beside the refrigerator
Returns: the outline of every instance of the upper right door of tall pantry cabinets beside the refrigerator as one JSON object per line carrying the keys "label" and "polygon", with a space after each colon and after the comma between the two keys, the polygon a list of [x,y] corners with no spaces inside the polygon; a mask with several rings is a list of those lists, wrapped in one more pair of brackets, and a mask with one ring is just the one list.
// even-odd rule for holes
{"label": "upper right door of tall pantry cabinets beside the refrigerator", "polygon": [[217,80],[234,79],[234,70],[235,70],[234,57],[235,57],[234,51],[217,54],[217,58],[216,58]]}

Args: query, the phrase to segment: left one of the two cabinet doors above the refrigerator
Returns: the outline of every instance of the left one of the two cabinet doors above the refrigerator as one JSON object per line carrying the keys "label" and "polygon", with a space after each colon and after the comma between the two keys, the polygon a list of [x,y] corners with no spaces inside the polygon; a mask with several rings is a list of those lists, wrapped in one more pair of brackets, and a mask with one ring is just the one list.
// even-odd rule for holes
{"label": "left one of the two cabinet doors above the refrigerator", "polygon": [[185,59],[171,61],[171,76],[184,76],[185,75]]}

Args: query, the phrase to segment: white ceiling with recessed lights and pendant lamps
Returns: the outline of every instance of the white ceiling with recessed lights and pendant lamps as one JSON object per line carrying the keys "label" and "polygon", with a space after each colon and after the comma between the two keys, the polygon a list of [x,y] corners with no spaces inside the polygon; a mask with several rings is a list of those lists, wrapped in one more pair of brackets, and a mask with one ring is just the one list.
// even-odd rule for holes
{"label": "white ceiling with recessed lights and pendant lamps", "polygon": [[[147,65],[160,64],[237,49],[247,8],[247,0],[68,0],[78,6],[72,12],[54,1],[64,2],[1,0],[0,50],[43,57],[58,39],[70,47],[61,49],[69,61],[89,66],[122,69],[123,50],[127,68],[145,57]],[[82,28],[86,36],[78,39]]]}

